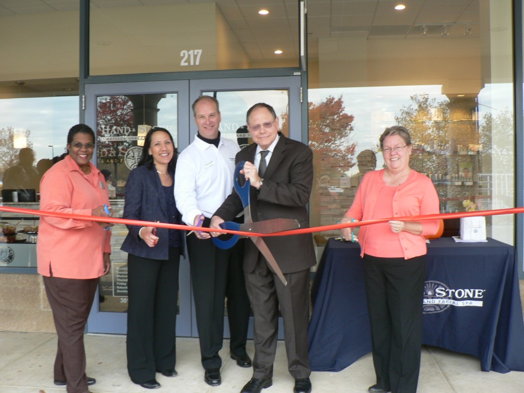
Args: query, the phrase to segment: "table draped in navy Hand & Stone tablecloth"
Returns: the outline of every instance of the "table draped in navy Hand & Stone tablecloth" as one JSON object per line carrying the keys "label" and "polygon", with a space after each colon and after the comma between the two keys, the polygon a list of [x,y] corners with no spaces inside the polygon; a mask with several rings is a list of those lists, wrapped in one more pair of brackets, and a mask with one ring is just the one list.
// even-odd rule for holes
{"label": "table draped in navy Hand & Stone tablecloth", "polygon": [[[363,261],[357,243],[329,239],[311,290],[312,370],[340,371],[371,351]],[[486,243],[428,244],[424,345],[470,354],[483,371],[524,371],[524,323],[515,248]]]}

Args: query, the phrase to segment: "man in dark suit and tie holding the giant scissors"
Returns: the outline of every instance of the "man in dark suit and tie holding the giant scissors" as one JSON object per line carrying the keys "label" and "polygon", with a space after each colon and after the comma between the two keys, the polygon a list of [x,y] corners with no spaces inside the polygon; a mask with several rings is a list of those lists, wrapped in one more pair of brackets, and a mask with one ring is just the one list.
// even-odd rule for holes
{"label": "man in dark suit and tie holding the giant scissors", "polygon": [[[307,227],[313,182],[313,153],[304,144],[278,131],[279,118],[268,104],[253,105],[247,111],[249,133],[255,142],[238,152],[235,161],[246,161],[241,173],[250,181],[250,209],[253,221],[296,219]],[[243,210],[233,191],[215,212],[210,227],[220,228]],[[212,236],[220,235],[213,232]],[[278,334],[278,311],[285,326],[289,373],[295,379],[295,393],[309,393],[311,369],[308,358],[309,269],[315,264],[310,234],[266,237],[266,244],[287,279],[284,286],[253,242],[246,242],[244,275],[255,317],[253,378],[241,393],[259,393],[272,385]]]}

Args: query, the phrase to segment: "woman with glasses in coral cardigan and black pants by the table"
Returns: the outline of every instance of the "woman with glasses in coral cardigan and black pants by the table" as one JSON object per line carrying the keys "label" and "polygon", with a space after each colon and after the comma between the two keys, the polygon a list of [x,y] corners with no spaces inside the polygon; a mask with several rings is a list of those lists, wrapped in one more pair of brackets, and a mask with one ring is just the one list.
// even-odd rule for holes
{"label": "woman with glasses in coral cardigan and black pants by the table", "polygon": [[[372,335],[376,384],[371,393],[415,393],[422,345],[425,280],[424,235],[439,221],[399,221],[395,217],[439,213],[431,180],[409,166],[411,137],[402,126],[380,136],[386,168],[365,174],[355,200],[341,222],[392,217],[366,225],[359,233]],[[342,234],[351,239],[351,228]]]}

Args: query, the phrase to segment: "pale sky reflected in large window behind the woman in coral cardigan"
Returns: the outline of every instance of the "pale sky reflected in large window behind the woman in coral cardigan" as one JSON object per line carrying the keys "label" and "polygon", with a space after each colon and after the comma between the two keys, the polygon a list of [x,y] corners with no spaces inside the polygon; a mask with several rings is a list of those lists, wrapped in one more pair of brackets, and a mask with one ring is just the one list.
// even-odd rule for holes
{"label": "pale sky reflected in large window behind the woman in coral cardigan", "polygon": [[[441,85],[414,86],[375,86],[365,88],[309,89],[308,101],[319,104],[328,96],[342,96],[345,113],[355,117],[352,140],[356,141],[355,155],[365,149],[372,149],[378,144],[380,134],[386,127],[395,125],[395,117],[400,116],[402,107],[412,105],[410,96],[414,94],[429,94],[429,99],[436,102],[447,102],[449,99],[441,94]],[[501,111],[512,107],[512,85],[486,85],[478,95],[481,119],[485,112]],[[384,165],[382,155],[377,154],[377,168]],[[358,172],[352,168],[348,174]]]}

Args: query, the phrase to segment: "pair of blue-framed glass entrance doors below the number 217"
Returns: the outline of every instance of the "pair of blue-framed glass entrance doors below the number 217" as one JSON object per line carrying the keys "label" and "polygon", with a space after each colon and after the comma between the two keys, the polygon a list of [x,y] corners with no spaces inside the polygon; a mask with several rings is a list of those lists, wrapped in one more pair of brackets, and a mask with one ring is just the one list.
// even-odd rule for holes
{"label": "pair of blue-framed glass entrance doors below the number 217", "polygon": [[[246,112],[258,102],[274,106],[282,132],[301,140],[300,83],[297,76],[85,85],[85,122],[97,135],[93,160],[106,174],[114,215],[122,217],[125,182],[137,165],[149,127],[167,128],[178,151],[182,151],[197,133],[191,104],[205,94],[219,100],[222,136],[235,139],[241,147],[251,143],[245,127]],[[126,235],[125,225],[112,228],[113,268],[100,279],[99,293],[88,321],[90,333],[126,333],[127,254],[120,250]],[[198,336],[189,261],[183,258],[178,312],[177,335]],[[224,336],[228,337],[227,318],[225,326]]]}

